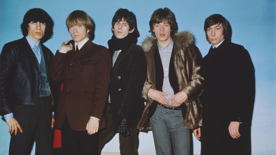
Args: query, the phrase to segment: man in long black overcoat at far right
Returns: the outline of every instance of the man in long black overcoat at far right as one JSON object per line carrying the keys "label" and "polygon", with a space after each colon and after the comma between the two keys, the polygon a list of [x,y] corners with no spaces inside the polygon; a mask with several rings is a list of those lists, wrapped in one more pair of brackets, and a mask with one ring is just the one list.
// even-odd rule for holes
{"label": "man in long black overcoat at far right", "polygon": [[231,42],[231,26],[220,14],[204,22],[212,46],[203,58],[202,154],[251,154],[251,121],[255,98],[254,66],[248,51]]}

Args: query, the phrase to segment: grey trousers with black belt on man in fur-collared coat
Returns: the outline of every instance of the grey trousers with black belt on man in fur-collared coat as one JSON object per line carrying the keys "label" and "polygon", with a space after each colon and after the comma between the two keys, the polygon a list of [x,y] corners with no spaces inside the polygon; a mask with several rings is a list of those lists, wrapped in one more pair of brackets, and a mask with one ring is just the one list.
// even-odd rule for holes
{"label": "grey trousers with black belt on man in fur-collared coat", "polygon": [[150,118],[156,155],[189,155],[190,131],[184,127],[181,110],[157,105]]}

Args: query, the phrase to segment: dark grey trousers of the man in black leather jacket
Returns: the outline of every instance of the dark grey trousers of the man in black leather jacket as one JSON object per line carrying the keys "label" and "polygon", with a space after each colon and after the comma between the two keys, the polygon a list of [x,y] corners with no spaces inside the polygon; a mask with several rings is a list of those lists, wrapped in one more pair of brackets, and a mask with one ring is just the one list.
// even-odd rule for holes
{"label": "dark grey trousers of the man in black leather jacket", "polygon": [[23,132],[11,135],[9,154],[30,154],[34,141],[35,154],[51,154],[51,97],[39,97],[36,106],[14,106],[13,114]]}

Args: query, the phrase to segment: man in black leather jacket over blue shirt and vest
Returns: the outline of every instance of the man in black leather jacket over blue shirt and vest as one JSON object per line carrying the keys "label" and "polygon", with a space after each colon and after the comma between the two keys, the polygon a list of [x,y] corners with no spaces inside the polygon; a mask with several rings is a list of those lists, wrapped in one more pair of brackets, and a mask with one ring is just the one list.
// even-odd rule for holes
{"label": "man in black leather jacket over blue shirt and vest", "polygon": [[42,9],[30,9],[21,29],[24,37],[5,44],[0,60],[0,112],[11,134],[9,154],[29,154],[33,141],[36,154],[51,154],[53,53],[43,42],[53,35],[53,20]]}

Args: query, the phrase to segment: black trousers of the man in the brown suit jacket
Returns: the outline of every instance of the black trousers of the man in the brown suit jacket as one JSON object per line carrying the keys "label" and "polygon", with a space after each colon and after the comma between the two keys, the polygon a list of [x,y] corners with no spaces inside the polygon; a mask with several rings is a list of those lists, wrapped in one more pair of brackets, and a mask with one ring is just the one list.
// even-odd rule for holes
{"label": "black trousers of the man in the brown suit jacket", "polygon": [[61,128],[61,141],[64,155],[98,154],[98,133],[89,135],[87,131],[72,130],[67,117]]}

